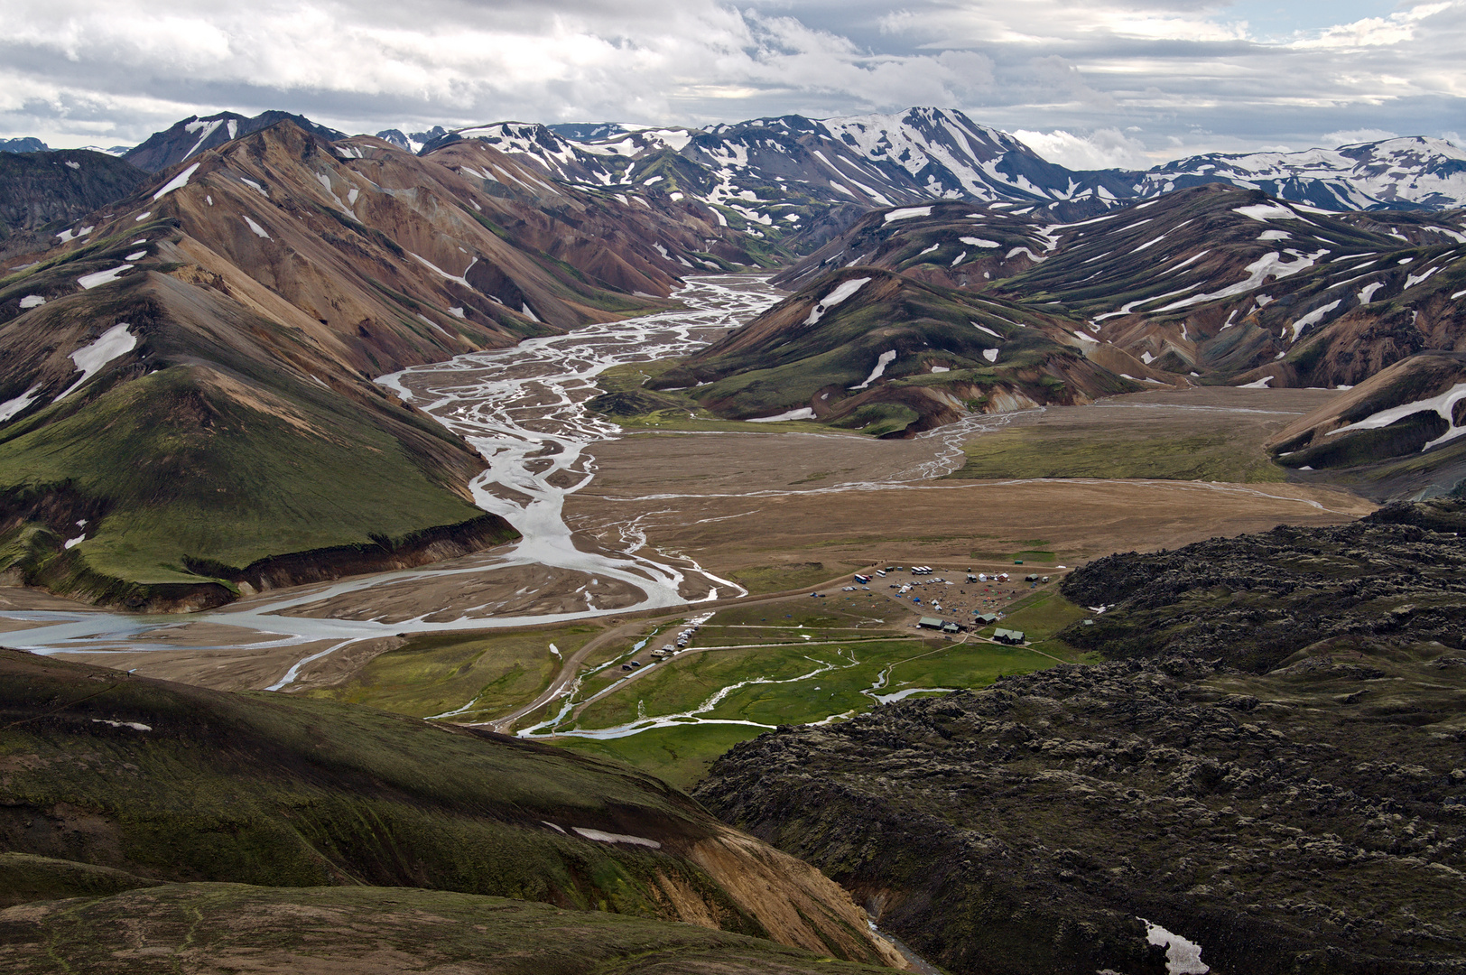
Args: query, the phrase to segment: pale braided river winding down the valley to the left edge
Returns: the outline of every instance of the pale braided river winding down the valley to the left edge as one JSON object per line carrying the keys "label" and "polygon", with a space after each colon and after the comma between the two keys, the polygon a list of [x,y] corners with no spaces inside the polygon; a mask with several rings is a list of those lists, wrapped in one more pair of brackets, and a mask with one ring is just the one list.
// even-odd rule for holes
{"label": "pale braided river winding down the valley to the left edge", "polygon": [[[622,551],[578,548],[563,518],[564,498],[594,478],[594,460],[586,449],[622,433],[616,424],[583,408],[585,400],[601,393],[595,377],[627,362],[686,356],[776,303],[781,293],[768,286],[762,274],[727,274],[689,277],[677,298],[686,308],[585,325],[570,334],[529,339],[510,349],[462,355],[377,380],[482,453],[488,469],[471,484],[474,500],[485,512],[500,515],[513,525],[522,534],[520,541],[468,566],[427,566],[353,576],[295,589],[277,600],[252,600],[248,606],[236,604],[188,617],[98,610],[0,610],[0,617],[7,620],[35,623],[31,629],[4,633],[6,645],[44,655],[155,651],[160,650],[155,642],[136,638],[180,623],[220,623],[267,638],[251,644],[252,648],[331,641],[327,650],[289,667],[270,686],[277,691],[292,683],[302,666],[359,641],[399,633],[570,622],[743,595],[742,586],[710,573],[690,559],[657,560],[639,554],[645,537],[635,529],[623,534]],[[289,613],[345,594],[520,566],[583,573],[592,586],[600,581],[616,581],[639,592],[641,598],[630,606],[603,608],[595,606],[594,594],[588,594],[583,610],[506,616],[465,613],[449,620],[430,620],[430,616],[441,616],[437,608],[409,620]]]}

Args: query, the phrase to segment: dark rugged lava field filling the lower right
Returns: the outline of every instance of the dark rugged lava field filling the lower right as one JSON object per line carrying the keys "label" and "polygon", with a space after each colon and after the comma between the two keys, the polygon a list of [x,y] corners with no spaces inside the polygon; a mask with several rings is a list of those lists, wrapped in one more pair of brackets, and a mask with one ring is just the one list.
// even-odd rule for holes
{"label": "dark rugged lava field filling the lower right", "polygon": [[1462,520],[1094,562],[1066,594],[1117,606],[1063,638],[1124,660],[781,729],[695,795],[962,975],[1158,975],[1142,918],[1214,975],[1460,972]]}

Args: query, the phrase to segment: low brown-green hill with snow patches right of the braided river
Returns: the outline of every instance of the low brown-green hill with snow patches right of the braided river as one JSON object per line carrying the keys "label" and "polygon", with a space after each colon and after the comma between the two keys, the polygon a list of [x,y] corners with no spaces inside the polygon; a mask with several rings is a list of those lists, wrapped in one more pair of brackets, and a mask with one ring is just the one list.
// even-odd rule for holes
{"label": "low brown-green hill with snow patches right of the braided river", "polygon": [[827,274],[708,346],[652,389],[727,418],[808,409],[819,422],[910,435],[965,412],[1083,403],[1141,389],[1085,356],[1080,325],[869,267]]}

